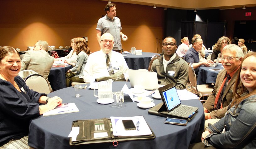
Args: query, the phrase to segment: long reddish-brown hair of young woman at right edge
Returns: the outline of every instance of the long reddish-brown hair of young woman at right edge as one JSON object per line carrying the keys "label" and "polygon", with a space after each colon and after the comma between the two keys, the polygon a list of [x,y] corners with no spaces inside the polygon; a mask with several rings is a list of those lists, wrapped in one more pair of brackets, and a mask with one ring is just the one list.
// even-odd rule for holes
{"label": "long reddish-brown hair of young woman at right edge", "polygon": [[[233,100],[231,102],[231,107],[234,106],[234,105],[237,105],[243,101],[245,98],[248,98],[250,97],[251,95],[255,95],[256,94],[256,90],[254,90],[253,92],[251,93],[248,93],[247,95],[245,96],[242,96],[241,95],[245,92],[248,91],[248,89],[241,83],[241,78],[240,78],[240,73],[241,73],[241,69],[242,69],[242,63],[243,61],[248,58],[249,56],[254,56],[256,57],[256,52],[251,52],[251,53],[248,53],[246,56],[244,56],[244,58],[242,59],[241,61],[241,65],[239,67],[239,69],[237,70],[238,71],[238,77],[237,77],[237,80],[235,82],[235,85],[234,85],[234,88],[233,88]],[[241,91],[238,93],[238,89],[237,89],[237,86],[240,85],[241,83]],[[237,107],[236,107],[237,108]]]}

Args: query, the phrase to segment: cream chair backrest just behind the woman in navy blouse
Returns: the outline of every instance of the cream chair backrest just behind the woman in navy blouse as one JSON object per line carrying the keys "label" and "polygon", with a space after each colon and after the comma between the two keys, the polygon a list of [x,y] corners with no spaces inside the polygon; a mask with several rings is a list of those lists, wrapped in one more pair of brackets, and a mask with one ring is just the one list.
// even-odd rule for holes
{"label": "cream chair backrest just behind the woman in navy blouse", "polygon": [[30,89],[39,93],[50,93],[49,85],[46,79],[40,74],[32,74],[24,80]]}

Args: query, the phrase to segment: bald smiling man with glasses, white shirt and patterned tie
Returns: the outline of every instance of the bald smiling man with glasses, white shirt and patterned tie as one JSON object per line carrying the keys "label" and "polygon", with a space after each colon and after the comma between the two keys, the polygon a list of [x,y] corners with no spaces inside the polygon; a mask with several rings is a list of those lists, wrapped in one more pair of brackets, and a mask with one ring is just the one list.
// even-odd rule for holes
{"label": "bald smiling man with glasses, white shirt and patterned tie", "polygon": [[128,66],[123,55],[112,51],[113,36],[105,33],[100,40],[101,50],[90,54],[84,67],[84,82],[95,82],[96,78],[123,73],[126,81],[129,79]]}

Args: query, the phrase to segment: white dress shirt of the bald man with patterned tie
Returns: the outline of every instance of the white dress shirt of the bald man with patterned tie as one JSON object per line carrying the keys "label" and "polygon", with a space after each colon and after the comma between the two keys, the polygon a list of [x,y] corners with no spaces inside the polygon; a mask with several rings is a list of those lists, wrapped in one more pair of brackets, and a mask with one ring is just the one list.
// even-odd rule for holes
{"label": "white dress shirt of the bald man with patterned tie", "polygon": [[[114,73],[124,73],[126,80],[128,76],[128,66],[123,58],[123,55],[111,51],[108,53]],[[84,67],[84,82],[94,82],[95,78],[109,76],[106,67],[106,53],[102,50],[90,54],[87,63]]]}

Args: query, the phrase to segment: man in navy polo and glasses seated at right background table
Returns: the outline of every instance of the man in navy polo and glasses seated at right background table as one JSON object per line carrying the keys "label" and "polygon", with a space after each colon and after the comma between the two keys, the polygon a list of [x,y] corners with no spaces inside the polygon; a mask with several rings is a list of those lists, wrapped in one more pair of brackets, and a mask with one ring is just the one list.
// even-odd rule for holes
{"label": "man in navy polo and glasses seated at right background table", "polygon": [[191,63],[193,68],[195,69],[195,73],[198,74],[198,70],[201,65],[210,67],[210,65],[213,64],[213,61],[199,61],[199,51],[201,51],[203,47],[203,40],[200,37],[193,37],[191,42],[192,47],[185,54],[184,60],[188,63]]}

